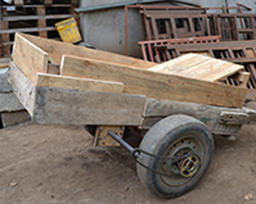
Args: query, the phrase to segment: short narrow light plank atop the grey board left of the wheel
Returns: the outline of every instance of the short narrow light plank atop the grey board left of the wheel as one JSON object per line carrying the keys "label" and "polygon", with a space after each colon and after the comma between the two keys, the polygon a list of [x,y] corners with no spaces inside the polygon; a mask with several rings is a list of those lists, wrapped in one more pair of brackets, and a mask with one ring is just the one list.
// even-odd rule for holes
{"label": "short narrow light plank atop the grey board left of the wheel", "polygon": [[46,73],[37,74],[36,85],[54,88],[69,88],[112,93],[122,93],[124,90],[124,84],[121,82],[85,79],[79,77],[68,77]]}

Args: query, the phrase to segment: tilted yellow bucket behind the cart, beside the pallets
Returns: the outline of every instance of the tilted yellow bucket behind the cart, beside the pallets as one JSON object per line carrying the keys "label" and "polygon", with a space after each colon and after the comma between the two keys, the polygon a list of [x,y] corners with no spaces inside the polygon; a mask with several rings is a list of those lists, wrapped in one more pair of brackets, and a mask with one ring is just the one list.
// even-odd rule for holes
{"label": "tilted yellow bucket behind the cart, beside the pallets", "polygon": [[55,27],[63,42],[77,43],[82,40],[74,17],[55,23]]}

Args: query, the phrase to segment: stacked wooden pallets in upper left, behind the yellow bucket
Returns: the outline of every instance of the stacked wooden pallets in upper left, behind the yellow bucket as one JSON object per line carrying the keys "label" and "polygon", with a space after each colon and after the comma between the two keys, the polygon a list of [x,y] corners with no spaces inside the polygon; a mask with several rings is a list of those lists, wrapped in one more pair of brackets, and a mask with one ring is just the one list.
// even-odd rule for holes
{"label": "stacked wooden pallets in upper left, behind the yellow bucket", "polygon": [[[18,8],[19,12],[16,10],[7,12],[7,8],[10,7],[10,5],[3,7],[4,17],[0,21],[0,57],[10,57],[15,32],[60,39],[54,23],[73,16],[77,17],[71,1],[68,3],[60,1],[58,4],[52,4],[49,1],[26,4],[24,1],[24,4]],[[20,11],[23,12],[23,15],[20,15]]]}

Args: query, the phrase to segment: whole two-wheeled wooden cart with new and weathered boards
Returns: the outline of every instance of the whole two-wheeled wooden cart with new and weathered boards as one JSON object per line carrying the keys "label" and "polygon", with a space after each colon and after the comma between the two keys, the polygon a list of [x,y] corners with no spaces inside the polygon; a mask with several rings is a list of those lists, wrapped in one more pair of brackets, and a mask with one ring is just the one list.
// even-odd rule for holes
{"label": "whole two-wheeled wooden cart with new and weathered boards", "polygon": [[[16,33],[9,81],[34,122],[93,125],[94,145],[126,147],[141,181],[170,198],[207,170],[212,134],[237,136],[256,121],[256,112],[242,107],[250,77],[242,66],[182,57],[156,65]],[[219,82],[230,75],[238,86]],[[139,148],[122,139],[127,126],[148,130]]]}

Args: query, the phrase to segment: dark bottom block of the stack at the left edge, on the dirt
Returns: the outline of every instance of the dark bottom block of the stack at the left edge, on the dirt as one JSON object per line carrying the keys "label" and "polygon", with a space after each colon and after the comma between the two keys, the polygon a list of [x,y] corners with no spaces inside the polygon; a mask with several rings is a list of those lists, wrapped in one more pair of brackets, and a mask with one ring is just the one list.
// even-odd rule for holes
{"label": "dark bottom block of the stack at the left edge, on the dirt", "polygon": [[19,123],[30,121],[30,115],[27,111],[16,111],[16,112],[6,112],[1,113],[3,127],[17,125]]}

